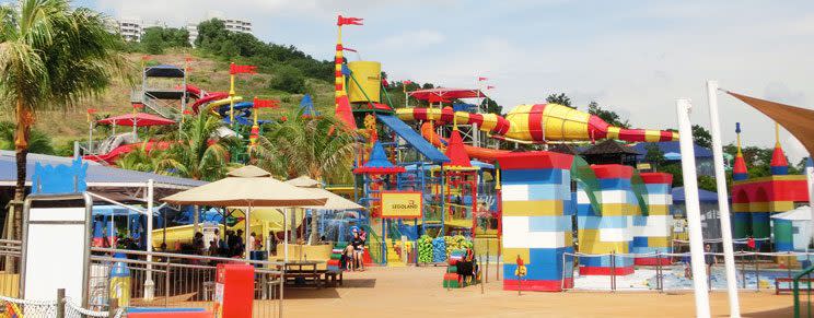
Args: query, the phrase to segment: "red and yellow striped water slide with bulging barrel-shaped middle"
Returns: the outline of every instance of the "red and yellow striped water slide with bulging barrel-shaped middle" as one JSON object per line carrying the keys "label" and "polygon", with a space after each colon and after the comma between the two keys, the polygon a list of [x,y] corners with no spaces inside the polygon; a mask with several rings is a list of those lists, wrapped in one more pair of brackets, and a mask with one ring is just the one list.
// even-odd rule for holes
{"label": "red and yellow striped water slide with bulging barrel-shaped middle", "polygon": [[477,123],[493,138],[516,142],[591,141],[618,139],[628,142],[678,140],[678,132],[626,129],[610,126],[602,118],[557,104],[519,105],[505,118],[495,114],[472,114],[444,108],[403,108],[396,110],[405,121],[435,121],[438,125]]}

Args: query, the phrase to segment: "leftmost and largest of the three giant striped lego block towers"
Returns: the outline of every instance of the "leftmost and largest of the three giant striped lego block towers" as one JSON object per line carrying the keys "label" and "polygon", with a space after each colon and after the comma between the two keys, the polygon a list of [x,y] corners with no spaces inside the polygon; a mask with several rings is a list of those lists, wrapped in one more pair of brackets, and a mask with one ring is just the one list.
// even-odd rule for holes
{"label": "leftmost and largest of the three giant striped lego block towers", "polygon": [[[498,157],[502,184],[503,290],[559,292],[573,285],[570,168],[573,156],[551,152]],[[520,261],[526,273],[518,279]],[[565,276],[565,279],[563,279]]]}

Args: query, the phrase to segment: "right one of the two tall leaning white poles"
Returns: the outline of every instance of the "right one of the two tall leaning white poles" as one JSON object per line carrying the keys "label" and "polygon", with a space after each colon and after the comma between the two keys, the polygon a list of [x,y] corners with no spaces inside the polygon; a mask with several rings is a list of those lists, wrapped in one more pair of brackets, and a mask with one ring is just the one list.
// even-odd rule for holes
{"label": "right one of the two tall leaning white poles", "polygon": [[730,317],[741,317],[737,299],[737,276],[735,273],[735,251],[732,243],[726,174],[723,170],[723,146],[721,145],[721,125],[718,117],[718,81],[707,81],[709,102],[709,122],[712,134],[712,154],[716,165],[716,186],[718,188],[718,211],[720,211],[721,238],[723,239],[723,264],[726,270],[726,294],[730,301]]}

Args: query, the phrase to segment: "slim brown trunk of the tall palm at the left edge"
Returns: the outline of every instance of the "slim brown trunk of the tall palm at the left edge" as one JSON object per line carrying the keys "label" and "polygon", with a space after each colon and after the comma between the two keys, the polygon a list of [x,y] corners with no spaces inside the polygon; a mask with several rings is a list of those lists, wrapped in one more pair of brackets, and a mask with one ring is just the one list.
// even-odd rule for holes
{"label": "slim brown trunk of the tall palm at the left edge", "polygon": [[25,175],[27,170],[28,133],[34,116],[24,106],[22,99],[16,103],[16,136],[14,138],[14,150],[16,157],[18,178],[14,187],[14,224],[13,238],[22,239],[23,236],[23,200],[25,199]]}

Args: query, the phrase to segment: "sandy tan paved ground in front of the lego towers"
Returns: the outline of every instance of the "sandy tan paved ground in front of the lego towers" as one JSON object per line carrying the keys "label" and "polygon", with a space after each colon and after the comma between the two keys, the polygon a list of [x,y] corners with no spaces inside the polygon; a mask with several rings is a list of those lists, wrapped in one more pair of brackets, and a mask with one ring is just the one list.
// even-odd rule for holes
{"label": "sandy tan paved ground in front of the lego towers", "polygon": [[[444,268],[371,268],[345,274],[345,286],[286,291],[288,317],[691,317],[694,295],[651,292],[504,292],[480,286],[441,287]],[[711,294],[713,317],[728,317],[725,292]],[[790,317],[790,295],[741,293],[743,317]],[[373,316],[375,315],[375,316]]]}

